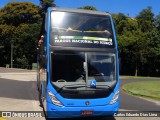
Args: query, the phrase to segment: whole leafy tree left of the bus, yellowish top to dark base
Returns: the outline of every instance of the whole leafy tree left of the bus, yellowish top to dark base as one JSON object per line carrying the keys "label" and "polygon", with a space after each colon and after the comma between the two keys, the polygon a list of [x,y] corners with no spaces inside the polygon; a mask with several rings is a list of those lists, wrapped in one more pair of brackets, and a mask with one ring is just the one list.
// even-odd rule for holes
{"label": "whole leafy tree left of the bus, yellowish top to dark base", "polygon": [[[36,62],[36,46],[41,26],[40,8],[30,2],[11,2],[0,9],[0,66],[11,60],[13,45],[14,64]],[[12,13],[12,14],[11,14]]]}

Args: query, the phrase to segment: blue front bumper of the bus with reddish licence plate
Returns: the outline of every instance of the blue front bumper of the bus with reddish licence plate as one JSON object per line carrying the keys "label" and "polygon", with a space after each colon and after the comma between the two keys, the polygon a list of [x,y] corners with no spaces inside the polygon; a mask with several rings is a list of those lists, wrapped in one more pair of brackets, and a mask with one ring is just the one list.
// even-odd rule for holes
{"label": "blue front bumper of the bus with reddish licence plate", "polygon": [[112,105],[93,107],[59,107],[48,103],[46,115],[48,118],[109,116],[118,113],[118,108],[118,102]]}

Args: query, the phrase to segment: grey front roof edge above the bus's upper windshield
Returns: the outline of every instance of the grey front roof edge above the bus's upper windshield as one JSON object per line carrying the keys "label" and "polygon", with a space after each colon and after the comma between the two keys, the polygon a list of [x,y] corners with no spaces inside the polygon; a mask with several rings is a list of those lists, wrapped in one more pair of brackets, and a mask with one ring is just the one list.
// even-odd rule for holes
{"label": "grey front roof edge above the bus's upper windshield", "polygon": [[63,12],[74,12],[74,13],[88,13],[94,15],[109,15],[107,12],[100,12],[95,10],[85,10],[85,9],[73,9],[73,8],[59,8],[59,7],[49,7],[49,9],[55,11],[63,11]]}

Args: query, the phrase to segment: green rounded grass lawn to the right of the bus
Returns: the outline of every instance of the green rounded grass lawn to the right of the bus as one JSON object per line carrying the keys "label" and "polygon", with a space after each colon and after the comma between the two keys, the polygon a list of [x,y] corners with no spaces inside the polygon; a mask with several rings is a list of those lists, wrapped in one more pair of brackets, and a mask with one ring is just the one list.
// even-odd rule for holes
{"label": "green rounded grass lawn to the right of the bus", "polygon": [[160,81],[141,81],[127,83],[122,89],[132,95],[160,100]]}

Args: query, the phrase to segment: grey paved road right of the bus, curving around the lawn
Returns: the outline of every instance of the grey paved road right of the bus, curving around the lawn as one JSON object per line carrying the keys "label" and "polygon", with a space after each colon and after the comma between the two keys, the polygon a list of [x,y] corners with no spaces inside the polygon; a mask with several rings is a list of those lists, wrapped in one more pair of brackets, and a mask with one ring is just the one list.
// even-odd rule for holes
{"label": "grey paved road right of the bus, curving around the lawn", "polygon": [[[138,81],[150,81],[150,78],[132,78],[132,79],[121,79],[121,86],[126,83],[130,82],[138,82]],[[153,79],[152,80],[160,80],[160,79]],[[132,95],[128,95],[121,90],[121,102],[120,102],[120,109],[126,110],[137,110],[137,111],[160,111],[160,101],[148,101],[142,98],[138,98]]]}

